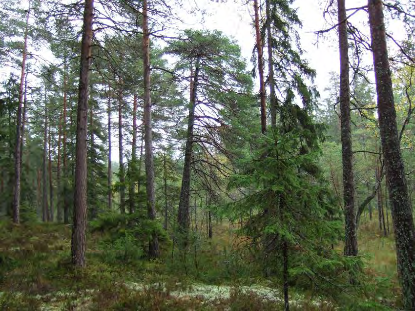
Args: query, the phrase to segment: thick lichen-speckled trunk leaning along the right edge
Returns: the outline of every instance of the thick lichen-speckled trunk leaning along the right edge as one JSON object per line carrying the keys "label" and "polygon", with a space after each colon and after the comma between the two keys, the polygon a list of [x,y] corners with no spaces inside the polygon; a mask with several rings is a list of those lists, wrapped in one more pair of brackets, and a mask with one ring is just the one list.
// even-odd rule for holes
{"label": "thick lichen-speckled trunk leaning along the right edge", "polygon": [[415,232],[412,208],[400,152],[396,111],[389,67],[382,0],[369,0],[369,24],[372,37],[377,110],[380,138],[386,168],[391,214],[394,222],[398,276],[404,307],[415,310]]}

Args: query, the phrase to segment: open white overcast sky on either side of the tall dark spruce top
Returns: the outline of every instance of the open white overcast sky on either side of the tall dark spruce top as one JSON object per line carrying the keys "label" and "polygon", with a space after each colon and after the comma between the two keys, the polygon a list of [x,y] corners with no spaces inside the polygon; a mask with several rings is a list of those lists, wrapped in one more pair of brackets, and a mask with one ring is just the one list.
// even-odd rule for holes
{"label": "open white overcast sky on either side of the tall dark spruce top", "polygon": [[[226,2],[215,2],[211,0],[197,0],[201,9],[206,10],[204,23],[200,23],[199,16],[187,17],[189,27],[218,29],[224,34],[234,37],[242,49],[242,55],[248,61],[251,57],[255,41],[255,34],[251,25],[253,14],[253,1],[242,5],[241,0],[228,0]],[[359,7],[367,3],[366,0],[349,0],[348,7]],[[317,71],[315,84],[321,94],[329,83],[329,73],[339,71],[339,56],[336,31],[320,38],[318,45],[317,36],[312,31],[325,29],[328,26],[323,18],[325,0],[296,0],[293,7],[298,8],[298,15],[303,21],[303,28],[300,30],[301,45],[305,50],[303,57],[307,59],[313,69]],[[336,18],[336,17],[334,17]],[[353,22],[365,22],[366,13],[359,12],[353,17]],[[336,21],[333,21],[335,24]],[[250,64],[250,67],[252,64]]]}

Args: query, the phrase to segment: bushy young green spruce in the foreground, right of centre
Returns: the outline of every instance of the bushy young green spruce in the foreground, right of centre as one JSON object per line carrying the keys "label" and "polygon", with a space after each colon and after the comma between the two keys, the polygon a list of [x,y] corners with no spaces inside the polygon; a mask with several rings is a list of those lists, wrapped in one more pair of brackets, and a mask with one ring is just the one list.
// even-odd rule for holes
{"label": "bushy young green spruce in the foreground, right of centre", "polygon": [[229,182],[245,196],[230,203],[227,213],[244,219],[240,234],[262,257],[257,259],[267,274],[281,274],[281,249],[287,243],[290,283],[335,296],[347,287],[350,273],[358,273],[361,261],[332,249],[342,239],[341,209],[316,165],[318,149],[302,153],[301,137],[310,132],[271,132],[257,140],[260,147],[241,160],[243,170]]}

